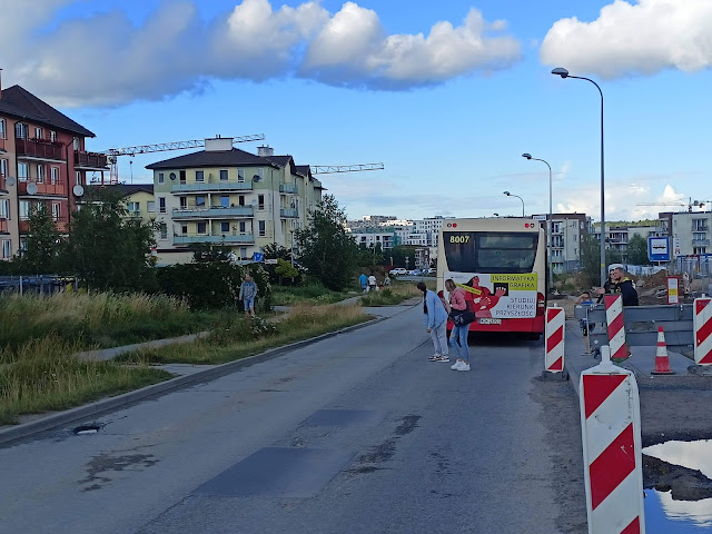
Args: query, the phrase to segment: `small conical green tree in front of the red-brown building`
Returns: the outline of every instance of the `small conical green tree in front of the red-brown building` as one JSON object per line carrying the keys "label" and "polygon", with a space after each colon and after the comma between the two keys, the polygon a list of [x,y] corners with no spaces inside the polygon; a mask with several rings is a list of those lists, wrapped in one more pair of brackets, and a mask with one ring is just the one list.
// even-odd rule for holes
{"label": "small conical green tree in front of the red-brown building", "polygon": [[56,273],[59,268],[61,237],[46,204],[34,205],[29,226],[26,249],[21,253],[21,270],[29,275]]}

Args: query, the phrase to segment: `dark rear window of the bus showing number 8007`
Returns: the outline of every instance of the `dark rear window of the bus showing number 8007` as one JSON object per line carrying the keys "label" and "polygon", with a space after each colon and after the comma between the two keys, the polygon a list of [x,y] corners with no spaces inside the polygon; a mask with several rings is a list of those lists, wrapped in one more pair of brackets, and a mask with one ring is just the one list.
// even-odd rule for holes
{"label": "dark rear window of the bus showing number 8007", "polygon": [[532,273],[538,234],[498,231],[443,233],[449,270],[457,273]]}

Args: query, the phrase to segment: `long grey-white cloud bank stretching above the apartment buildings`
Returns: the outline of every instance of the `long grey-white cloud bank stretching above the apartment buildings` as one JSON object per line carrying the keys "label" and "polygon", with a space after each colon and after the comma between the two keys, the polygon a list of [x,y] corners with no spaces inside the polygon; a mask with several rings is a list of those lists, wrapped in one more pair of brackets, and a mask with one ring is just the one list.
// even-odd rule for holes
{"label": "long grey-white cloud bank stretching above the apartment buildings", "polygon": [[[137,26],[115,8],[61,19],[80,0],[0,0],[0,66],[55,106],[121,105],[200,91],[210,80],[299,76],[334,86],[407,90],[506,69],[521,46],[472,9],[462,26],[436,22],[427,37],[386,34],[354,2],[329,13],[319,0],[273,9],[243,0],[204,22],[197,0],[165,0]],[[117,6],[121,6],[117,2]],[[78,57],[80,60],[71,60]]]}

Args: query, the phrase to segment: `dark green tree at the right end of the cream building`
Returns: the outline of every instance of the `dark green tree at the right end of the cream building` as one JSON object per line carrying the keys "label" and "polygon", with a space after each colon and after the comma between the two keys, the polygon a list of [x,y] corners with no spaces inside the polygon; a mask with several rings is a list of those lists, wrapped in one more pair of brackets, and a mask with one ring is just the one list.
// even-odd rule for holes
{"label": "dark green tree at the right end of the cream building", "polygon": [[345,225],[344,209],[333,195],[325,195],[309,212],[308,225],[295,231],[301,265],[334,290],[347,287],[356,269],[358,247]]}

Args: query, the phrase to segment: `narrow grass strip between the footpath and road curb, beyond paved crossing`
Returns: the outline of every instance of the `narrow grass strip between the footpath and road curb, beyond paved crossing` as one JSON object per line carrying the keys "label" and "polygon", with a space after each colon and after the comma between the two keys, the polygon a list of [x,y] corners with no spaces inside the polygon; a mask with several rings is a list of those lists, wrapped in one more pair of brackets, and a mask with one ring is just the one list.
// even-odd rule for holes
{"label": "narrow grass strip between the footpath and road curb, beyond paved crossing", "polygon": [[225,329],[188,345],[137,350],[120,359],[137,364],[224,364],[268,348],[308,339],[368,320],[359,306],[296,306],[279,323],[236,318]]}

